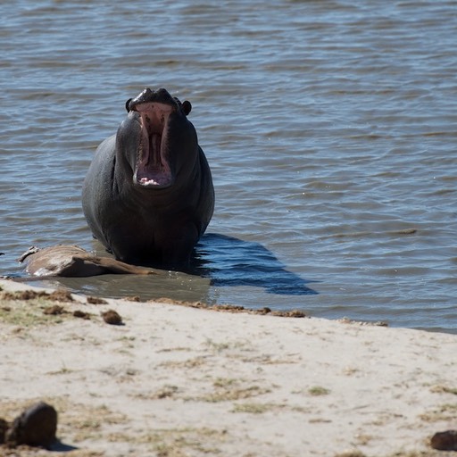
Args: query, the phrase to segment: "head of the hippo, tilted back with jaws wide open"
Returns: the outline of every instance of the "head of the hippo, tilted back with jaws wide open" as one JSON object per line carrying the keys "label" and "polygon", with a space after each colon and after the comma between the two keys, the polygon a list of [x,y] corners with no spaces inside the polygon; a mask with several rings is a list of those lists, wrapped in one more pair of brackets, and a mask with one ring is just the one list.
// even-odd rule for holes
{"label": "head of the hippo, tilted back with jaws wide open", "polygon": [[129,99],[126,108],[129,114],[118,130],[118,151],[129,164],[134,186],[172,186],[192,169],[198,154],[195,129],[187,120],[191,104],[181,104],[163,88],[146,88]]}

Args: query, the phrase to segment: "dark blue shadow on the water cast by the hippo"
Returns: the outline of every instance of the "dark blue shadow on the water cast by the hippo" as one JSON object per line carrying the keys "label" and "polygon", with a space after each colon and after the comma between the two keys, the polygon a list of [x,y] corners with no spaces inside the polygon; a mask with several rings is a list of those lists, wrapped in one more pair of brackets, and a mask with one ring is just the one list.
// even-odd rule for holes
{"label": "dark blue shadow on the water cast by the hippo", "polygon": [[214,287],[252,286],[277,295],[316,295],[260,243],[209,233],[196,247],[194,273]]}

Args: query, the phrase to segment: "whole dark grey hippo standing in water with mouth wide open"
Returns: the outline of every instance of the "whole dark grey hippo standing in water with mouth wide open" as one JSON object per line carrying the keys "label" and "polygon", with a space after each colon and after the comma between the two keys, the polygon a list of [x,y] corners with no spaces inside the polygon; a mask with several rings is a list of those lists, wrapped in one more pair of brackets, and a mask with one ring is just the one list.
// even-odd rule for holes
{"label": "whole dark grey hippo standing in water with mouth wide open", "polygon": [[185,101],[145,88],[97,148],[82,206],[94,237],[122,262],[189,262],[214,211],[212,174]]}

